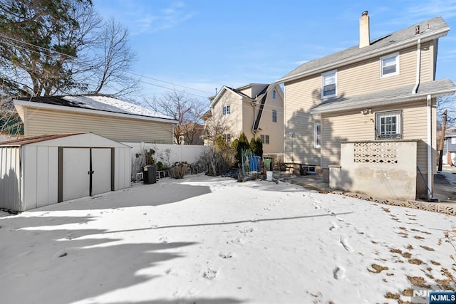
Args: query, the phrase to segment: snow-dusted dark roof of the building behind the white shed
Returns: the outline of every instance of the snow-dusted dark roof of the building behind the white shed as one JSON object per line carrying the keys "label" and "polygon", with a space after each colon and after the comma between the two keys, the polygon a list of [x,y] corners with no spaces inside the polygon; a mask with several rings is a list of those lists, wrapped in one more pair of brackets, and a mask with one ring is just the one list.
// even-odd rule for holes
{"label": "snow-dusted dark roof of the building behind the white shed", "polygon": [[117,113],[121,115],[134,115],[138,118],[153,118],[155,120],[175,122],[172,117],[146,109],[134,103],[128,103],[108,95],[66,95],[66,96],[40,96],[32,98],[17,98],[14,105],[35,106],[38,108],[66,107],[102,111],[109,115]]}

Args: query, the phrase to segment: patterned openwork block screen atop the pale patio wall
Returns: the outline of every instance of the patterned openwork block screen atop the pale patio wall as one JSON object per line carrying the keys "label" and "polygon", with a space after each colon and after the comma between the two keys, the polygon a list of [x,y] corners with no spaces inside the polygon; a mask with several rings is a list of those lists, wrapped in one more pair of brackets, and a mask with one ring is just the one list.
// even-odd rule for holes
{"label": "patterned openwork block screen atop the pale patio wall", "polygon": [[355,162],[397,164],[398,142],[356,142]]}

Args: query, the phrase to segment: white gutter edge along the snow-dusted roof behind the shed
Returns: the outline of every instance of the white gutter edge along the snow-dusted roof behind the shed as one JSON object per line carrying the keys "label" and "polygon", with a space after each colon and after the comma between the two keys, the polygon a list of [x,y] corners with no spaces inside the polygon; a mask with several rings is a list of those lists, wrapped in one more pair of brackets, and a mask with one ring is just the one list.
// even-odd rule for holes
{"label": "white gutter edge along the snow-dusted roof behind the shed", "polygon": [[88,113],[88,114],[95,114],[95,115],[106,115],[106,116],[114,116],[114,117],[124,117],[124,118],[133,118],[137,120],[149,120],[155,122],[170,122],[170,123],[177,123],[177,120],[172,118],[162,118],[162,117],[152,117],[152,116],[145,116],[145,115],[136,115],[136,114],[128,114],[128,113],[120,113],[120,112],[110,112],[104,110],[92,110],[87,108],[74,108],[74,107],[66,107],[64,105],[49,105],[48,103],[34,103],[32,101],[26,100],[14,100],[14,105],[19,105],[26,108],[36,108],[36,109],[48,109],[48,110],[59,110],[65,112],[76,112],[76,113]]}

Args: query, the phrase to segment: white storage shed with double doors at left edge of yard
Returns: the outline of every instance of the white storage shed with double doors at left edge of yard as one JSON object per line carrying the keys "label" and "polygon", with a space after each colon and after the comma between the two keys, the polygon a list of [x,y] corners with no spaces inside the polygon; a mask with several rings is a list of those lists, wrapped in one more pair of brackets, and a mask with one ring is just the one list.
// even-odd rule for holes
{"label": "white storage shed with double doors at left edge of yard", "polygon": [[0,143],[0,208],[26,211],[130,187],[131,147],[93,133]]}

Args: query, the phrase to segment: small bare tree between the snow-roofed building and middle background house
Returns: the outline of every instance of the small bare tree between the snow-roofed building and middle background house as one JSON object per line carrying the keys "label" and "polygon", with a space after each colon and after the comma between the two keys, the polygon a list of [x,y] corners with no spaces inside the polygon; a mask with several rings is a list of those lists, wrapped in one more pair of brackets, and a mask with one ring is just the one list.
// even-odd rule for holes
{"label": "small bare tree between the snow-roofed building and middle background house", "polygon": [[175,144],[195,145],[202,132],[199,123],[207,108],[201,100],[190,98],[185,91],[172,90],[154,97],[152,102],[145,100],[145,103],[152,110],[177,120],[174,127]]}

